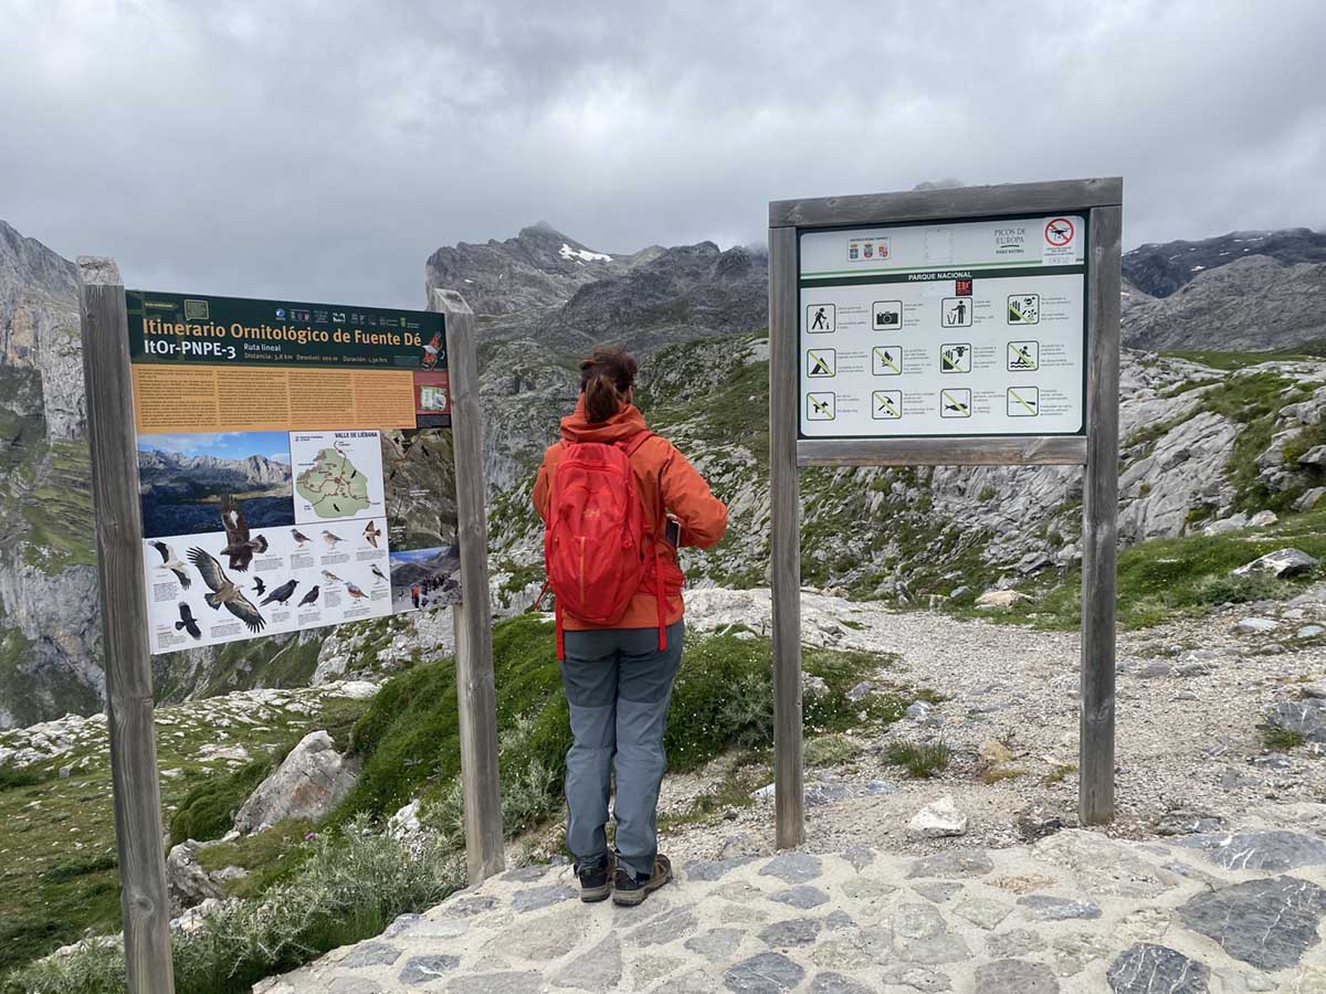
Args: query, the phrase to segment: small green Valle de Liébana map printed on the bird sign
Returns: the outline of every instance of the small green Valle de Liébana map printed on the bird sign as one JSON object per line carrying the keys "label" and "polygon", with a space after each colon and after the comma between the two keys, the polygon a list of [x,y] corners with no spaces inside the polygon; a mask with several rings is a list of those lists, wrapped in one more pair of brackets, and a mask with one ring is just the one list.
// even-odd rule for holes
{"label": "small green Valle de Li\u00e9bana map printed on the bird sign", "polygon": [[292,432],[294,517],[300,524],[383,513],[382,444],[375,431]]}

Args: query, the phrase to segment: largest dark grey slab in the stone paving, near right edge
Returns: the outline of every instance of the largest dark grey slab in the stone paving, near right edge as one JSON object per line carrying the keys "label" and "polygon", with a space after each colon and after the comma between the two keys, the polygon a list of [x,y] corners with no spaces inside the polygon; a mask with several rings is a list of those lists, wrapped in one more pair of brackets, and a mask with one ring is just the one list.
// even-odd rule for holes
{"label": "largest dark grey slab in the stone paving, near right edge", "polygon": [[1260,970],[1297,965],[1319,941],[1323,913],[1326,891],[1292,876],[1231,884],[1179,908],[1184,925]]}

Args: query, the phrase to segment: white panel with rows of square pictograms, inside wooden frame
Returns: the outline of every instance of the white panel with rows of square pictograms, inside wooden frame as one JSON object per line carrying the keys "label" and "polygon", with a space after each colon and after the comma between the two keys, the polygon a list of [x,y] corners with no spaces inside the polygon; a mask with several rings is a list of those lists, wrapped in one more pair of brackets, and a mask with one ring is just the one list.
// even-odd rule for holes
{"label": "white panel with rows of square pictograms, inside wooden frame", "polygon": [[1086,217],[800,236],[801,437],[1078,435]]}

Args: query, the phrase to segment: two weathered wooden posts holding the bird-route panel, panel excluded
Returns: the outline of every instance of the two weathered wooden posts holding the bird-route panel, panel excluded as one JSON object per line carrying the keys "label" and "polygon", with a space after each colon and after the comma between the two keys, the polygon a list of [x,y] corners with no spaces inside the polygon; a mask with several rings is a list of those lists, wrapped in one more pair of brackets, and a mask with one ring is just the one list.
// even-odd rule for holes
{"label": "two weathered wooden posts holding the bird-route panel, panel excluded", "polygon": [[[465,856],[472,884],[503,871],[488,525],[475,315],[439,290],[446,314],[463,602],[452,608]],[[125,286],[113,258],[78,257],[78,306],[101,584],[106,714],[130,994],[174,994],[170,895],[152,725],[142,508]]]}

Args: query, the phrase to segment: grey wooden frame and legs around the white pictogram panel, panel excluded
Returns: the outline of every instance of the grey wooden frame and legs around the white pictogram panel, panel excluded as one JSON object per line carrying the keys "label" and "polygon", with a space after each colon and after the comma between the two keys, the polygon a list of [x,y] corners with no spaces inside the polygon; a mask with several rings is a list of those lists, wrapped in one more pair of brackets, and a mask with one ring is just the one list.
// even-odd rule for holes
{"label": "grey wooden frame and legs around the white pictogram panel, panel excluded", "polygon": [[[780,848],[805,839],[801,712],[801,509],[806,465],[1083,465],[1078,815],[1114,818],[1115,571],[1119,492],[1119,178],[919,190],[769,204],[769,470],[774,806]],[[834,228],[1089,215],[1086,423],[1081,435],[804,439],[800,236]]]}

